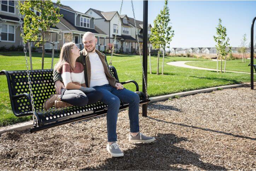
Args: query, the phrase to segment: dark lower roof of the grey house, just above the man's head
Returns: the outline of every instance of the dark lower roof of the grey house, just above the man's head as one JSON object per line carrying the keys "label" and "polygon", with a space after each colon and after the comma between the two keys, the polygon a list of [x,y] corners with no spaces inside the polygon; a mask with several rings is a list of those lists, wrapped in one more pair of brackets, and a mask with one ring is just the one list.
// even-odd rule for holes
{"label": "dark lower roof of the grey house, just above the man's head", "polygon": [[77,31],[83,31],[83,32],[87,32],[90,31],[92,33],[96,33],[96,34],[105,34],[104,31],[100,30],[97,26],[94,25],[94,29],[91,28],[85,28],[85,27],[79,27],[79,26],[75,26],[73,25],[71,22],[69,22],[69,20],[65,19],[65,17],[61,18],[59,17],[60,22],[62,22],[66,27],[68,27],[70,30],[77,30]]}

